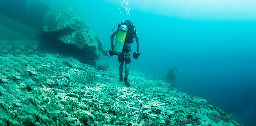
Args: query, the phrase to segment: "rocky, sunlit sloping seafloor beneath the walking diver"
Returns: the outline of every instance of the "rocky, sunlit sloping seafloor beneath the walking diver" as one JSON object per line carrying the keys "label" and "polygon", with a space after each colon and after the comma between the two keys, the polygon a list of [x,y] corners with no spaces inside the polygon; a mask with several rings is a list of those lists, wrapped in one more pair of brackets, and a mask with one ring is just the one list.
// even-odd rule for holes
{"label": "rocky, sunlit sloping seafloor beneath the walking diver", "polygon": [[112,64],[102,71],[58,54],[0,58],[1,126],[240,125],[162,78],[131,70],[125,87]]}

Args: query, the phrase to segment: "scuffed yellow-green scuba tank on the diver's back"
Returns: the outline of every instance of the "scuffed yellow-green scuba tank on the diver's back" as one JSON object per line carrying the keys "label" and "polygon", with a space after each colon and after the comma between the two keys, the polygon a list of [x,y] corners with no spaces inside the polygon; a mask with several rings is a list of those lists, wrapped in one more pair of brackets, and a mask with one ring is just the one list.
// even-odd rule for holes
{"label": "scuffed yellow-green scuba tank on the diver's back", "polygon": [[123,24],[119,27],[118,33],[116,36],[116,42],[114,44],[114,49],[113,49],[114,53],[116,54],[122,53],[127,31],[128,31],[128,27],[126,25]]}

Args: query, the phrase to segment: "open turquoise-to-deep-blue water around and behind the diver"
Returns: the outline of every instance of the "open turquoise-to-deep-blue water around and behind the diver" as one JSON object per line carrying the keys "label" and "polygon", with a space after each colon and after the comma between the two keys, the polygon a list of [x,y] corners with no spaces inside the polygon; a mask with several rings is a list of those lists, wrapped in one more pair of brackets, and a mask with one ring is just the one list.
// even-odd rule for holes
{"label": "open turquoise-to-deep-blue water around and behind the diver", "polygon": [[[50,8],[76,6],[109,50],[112,28],[124,20],[134,22],[142,53],[132,59],[131,70],[165,77],[169,68],[177,67],[177,89],[211,101],[244,126],[256,123],[256,2],[40,2]],[[102,59],[118,64],[116,57]]]}

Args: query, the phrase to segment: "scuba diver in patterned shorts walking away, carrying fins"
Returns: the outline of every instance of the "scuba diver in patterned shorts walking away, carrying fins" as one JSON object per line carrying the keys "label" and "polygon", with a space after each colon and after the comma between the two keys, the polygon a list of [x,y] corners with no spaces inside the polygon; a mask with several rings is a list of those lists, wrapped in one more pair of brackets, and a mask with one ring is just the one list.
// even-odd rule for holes
{"label": "scuba diver in patterned shorts walking away, carrying fins", "polygon": [[[114,28],[118,26],[118,28],[113,32]],[[133,43],[134,37],[136,39],[137,44],[137,52],[134,52],[133,57],[137,59],[141,53],[139,47],[139,36],[136,32],[136,28],[133,22],[126,20],[124,22],[118,23],[113,30],[110,36],[111,49],[112,52],[116,53],[118,56],[118,61],[120,63],[119,66],[119,81],[123,81],[123,70],[124,70],[124,85],[129,87],[130,84],[127,82],[129,71],[130,71],[130,63],[131,63],[131,43]],[[116,36],[115,46],[113,44],[114,37]],[[125,69],[124,69],[125,66]]]}

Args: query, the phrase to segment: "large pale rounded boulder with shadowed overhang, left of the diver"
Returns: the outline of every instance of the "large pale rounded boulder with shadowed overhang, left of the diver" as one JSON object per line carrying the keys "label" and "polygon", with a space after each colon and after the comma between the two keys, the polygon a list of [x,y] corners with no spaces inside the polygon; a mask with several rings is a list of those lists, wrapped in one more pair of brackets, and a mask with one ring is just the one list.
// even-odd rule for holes
{"label": "large pale rounded boulder with shadowed overhang, left of the diver", "polygon": [[73,6],[63,5],[44,16],[43,30],[65,44],[75,45],[87,60],[97,60],[104,44],[86,18]]}

